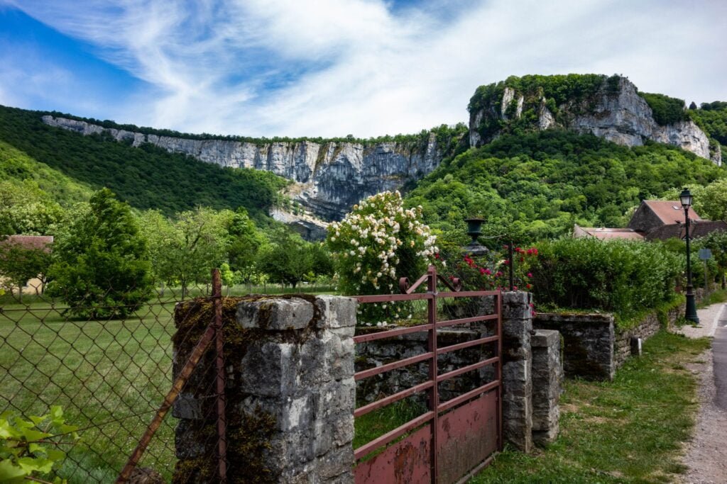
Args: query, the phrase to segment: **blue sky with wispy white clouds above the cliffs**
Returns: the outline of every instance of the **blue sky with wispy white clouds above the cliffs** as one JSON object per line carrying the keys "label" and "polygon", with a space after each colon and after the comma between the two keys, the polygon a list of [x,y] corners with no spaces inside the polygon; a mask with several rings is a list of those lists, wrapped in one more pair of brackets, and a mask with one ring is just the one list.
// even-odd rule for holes
{"label": "blue sky with wispy white clouds above the cliffs", "polygon": [[566,73],[727,100],[727,1],[0,0],[0,104],[187,133],[417,133]]}

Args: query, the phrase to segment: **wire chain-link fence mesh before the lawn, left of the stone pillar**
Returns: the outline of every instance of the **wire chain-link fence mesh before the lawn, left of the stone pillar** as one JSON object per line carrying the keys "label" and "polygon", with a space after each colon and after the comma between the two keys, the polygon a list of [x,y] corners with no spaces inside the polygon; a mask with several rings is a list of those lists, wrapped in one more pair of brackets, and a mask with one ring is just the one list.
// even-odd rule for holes
{"label": "wire chain-link fence mesh before the lawn, left of the stone pillar", "polygon": [[[0,413],[9,424],[22,426],[18,418],[32,422],[60,406],[65,423],[78,427],[79,440],[71,432],[38,438],[40,446],[66,453],[44,479],[114,482],[172,389],[174,307],[182,301],[181,289],[157,288],[148,301],[123,311],[99,303],[111,287],[105,295],[88,298],[85,307],[25,290],[22,297],[17,289],[0,296]],[[211,290],[212,284],[188,288],[185,299],[212,300],[205,298]],[[214,357],[214,351],[207,353]],[[181,369],[184,361],[174,363]],[[214,393],[212,388],[209,394]],[[171,414],[161,421],[134,471],[137,482],[172,480],[175,425]],[[33,456],[29,447],[23,453]],[[147,480],[139,481],[140,475]],[[180,475],[177,481],[184,482]]]}

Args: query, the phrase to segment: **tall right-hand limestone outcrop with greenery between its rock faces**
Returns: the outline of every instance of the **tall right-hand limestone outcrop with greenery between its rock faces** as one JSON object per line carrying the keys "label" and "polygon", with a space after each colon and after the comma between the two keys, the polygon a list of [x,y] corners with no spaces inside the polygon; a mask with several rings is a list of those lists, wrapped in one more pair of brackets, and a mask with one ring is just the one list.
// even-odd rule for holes
{"label": "tall right-hand limestone outcrop with greenery between its rock faces", "polygon": [[567,97],[560,104],[548,98],[544,89],[532,89],[531,85],[529,91],[518,91],[507,86],[507,81],[502,85],[483,86],[489,89],[478,89],[480,98],[475,99],[478,96],[475,94],[470,102],[470,145],[491,141],[512,126],[539,130],[559,127],[594,134],[629,147],[640,146],[647,139],[672,144],[721,165],[720,150],[710,152],[710,140],[693,121],[680,120],[661,126],[627,78],[598,77],[600,80],[593,85],[593,91],[578,86],[574,89],[578,95]]}

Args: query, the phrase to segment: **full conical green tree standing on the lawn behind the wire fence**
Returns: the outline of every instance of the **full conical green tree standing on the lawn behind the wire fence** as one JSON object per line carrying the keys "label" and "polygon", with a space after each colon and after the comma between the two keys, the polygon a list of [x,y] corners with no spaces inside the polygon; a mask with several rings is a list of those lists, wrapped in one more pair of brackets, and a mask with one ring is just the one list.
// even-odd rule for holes
{"label": "full conical green tree standing on the lawn behind the wire fence", "polygon": [[76,215],[57,236],[49,291],[76,316],[128,316],[152,289],[146,241],[129,205],[101,189]]}

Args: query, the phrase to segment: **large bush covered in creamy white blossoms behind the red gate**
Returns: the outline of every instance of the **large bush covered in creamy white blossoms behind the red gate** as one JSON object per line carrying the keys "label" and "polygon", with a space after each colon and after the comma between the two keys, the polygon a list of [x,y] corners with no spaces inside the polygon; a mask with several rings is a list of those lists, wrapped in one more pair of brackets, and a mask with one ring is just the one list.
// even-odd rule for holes
{"label": "large bush covered in creamy white blossoms behind the red gate", "polygon": [[421,207],[405,209],[399,192],[382,192],[332,223],[326,243],[336,260],[340,291],[346,295],[398,292],[400,277],[414,282],[424,274],[438,248],[435,235],[421,219]]}

